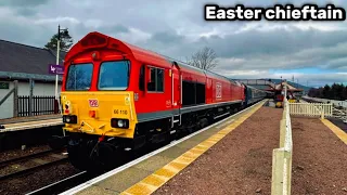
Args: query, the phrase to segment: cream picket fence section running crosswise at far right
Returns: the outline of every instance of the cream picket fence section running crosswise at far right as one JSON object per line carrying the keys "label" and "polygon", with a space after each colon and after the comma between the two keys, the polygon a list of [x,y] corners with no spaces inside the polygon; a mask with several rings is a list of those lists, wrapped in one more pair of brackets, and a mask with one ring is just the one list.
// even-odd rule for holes
{"label": "cream picket fence section running crosswise at far right", "polygon": [[332,103],[288,103],[291,115],[301,115],[310,117],[333,116]]}

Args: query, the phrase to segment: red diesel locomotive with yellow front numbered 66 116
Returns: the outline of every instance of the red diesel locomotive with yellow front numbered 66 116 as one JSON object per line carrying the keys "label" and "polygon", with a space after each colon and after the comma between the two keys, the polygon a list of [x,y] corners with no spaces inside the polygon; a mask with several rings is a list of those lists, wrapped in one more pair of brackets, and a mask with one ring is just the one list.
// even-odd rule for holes
{"label": "red diesel locomotive with yellow front numbered 66 116", "polygon": [[64,66],[68,156],[81,169],[115,164],[246,106],[246,86],[100,32],[78,41]]}

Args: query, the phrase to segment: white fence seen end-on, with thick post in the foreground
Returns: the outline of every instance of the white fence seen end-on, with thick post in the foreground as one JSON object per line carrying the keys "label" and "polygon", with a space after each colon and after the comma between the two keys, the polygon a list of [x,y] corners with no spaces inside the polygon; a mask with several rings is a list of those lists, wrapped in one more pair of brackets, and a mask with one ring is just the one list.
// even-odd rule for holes
{"label": "white fence seen end-on, with thick post in the foreground", "polygon": [[272,152],[271,195],[291,194],[292,156],[293,140],[290,103],[284,99],[283,115],[280,123],[280,147]]}

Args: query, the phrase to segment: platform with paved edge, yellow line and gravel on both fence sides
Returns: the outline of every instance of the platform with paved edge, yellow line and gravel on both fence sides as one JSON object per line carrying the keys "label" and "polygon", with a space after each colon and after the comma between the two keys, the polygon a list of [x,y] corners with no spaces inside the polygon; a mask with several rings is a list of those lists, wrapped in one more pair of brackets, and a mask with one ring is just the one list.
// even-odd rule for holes
{"label": "platform with paved edge, yellow line and gravel on both fence sides", "polygon": [[[271,194],[282,112],[260,102],[62,194]],[[346,193],[347,134],[319,118],[292,129],[292,192]]]}

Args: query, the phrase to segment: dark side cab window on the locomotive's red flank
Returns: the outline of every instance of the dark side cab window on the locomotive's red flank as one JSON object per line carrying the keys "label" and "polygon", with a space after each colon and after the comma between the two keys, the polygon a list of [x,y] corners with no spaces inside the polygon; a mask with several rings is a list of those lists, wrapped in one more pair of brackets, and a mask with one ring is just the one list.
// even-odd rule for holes
{"label": "dark side cab window on the locomotive's red flank", "polygon": [[150,67],[151,79],[147,82],[147,91],[164,92],[164,69]]}

